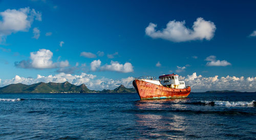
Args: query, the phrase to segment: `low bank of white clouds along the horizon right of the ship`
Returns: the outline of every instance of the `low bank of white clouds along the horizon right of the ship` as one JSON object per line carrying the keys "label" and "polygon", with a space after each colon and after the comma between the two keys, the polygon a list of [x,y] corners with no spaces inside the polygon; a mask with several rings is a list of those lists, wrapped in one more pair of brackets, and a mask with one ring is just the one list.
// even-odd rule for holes
{"label": "low bank of white clouds along the horizon right of the ship", "polygon": [[186,86],[190,86],[191,90],[194,92],[205,92],[208,90],[237,90],[237,91],[256,91],[256,77],[244,76],[223,76],[220,77],[215,75],[213,77],[203,77],[202,75],[197,75],[194,72],[191,75],[185,77]]}

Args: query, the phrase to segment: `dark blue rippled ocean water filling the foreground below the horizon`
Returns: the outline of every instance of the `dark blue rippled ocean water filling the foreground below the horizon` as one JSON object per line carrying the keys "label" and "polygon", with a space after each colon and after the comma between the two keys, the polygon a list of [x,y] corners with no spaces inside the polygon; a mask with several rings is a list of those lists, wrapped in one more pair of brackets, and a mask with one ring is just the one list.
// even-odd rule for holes
{"label": "dark blue rippled ocean water filling the foreground below the horizon", "polygon": [[0,139],[256,139],[255,93],[0,94]]}

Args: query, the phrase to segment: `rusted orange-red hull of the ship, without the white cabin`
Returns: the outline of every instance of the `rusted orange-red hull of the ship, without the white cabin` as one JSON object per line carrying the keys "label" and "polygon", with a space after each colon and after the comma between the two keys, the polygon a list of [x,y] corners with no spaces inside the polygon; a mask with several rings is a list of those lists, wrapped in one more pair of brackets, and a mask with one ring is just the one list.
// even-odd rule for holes
{"label": "rusted orange-red hull of the ship, without the white cabin", "polygon": [[191,91],[190,87],[186,89],[172,89],[137,79],[133,81],[133,86],[141,100],[186,98]]}

